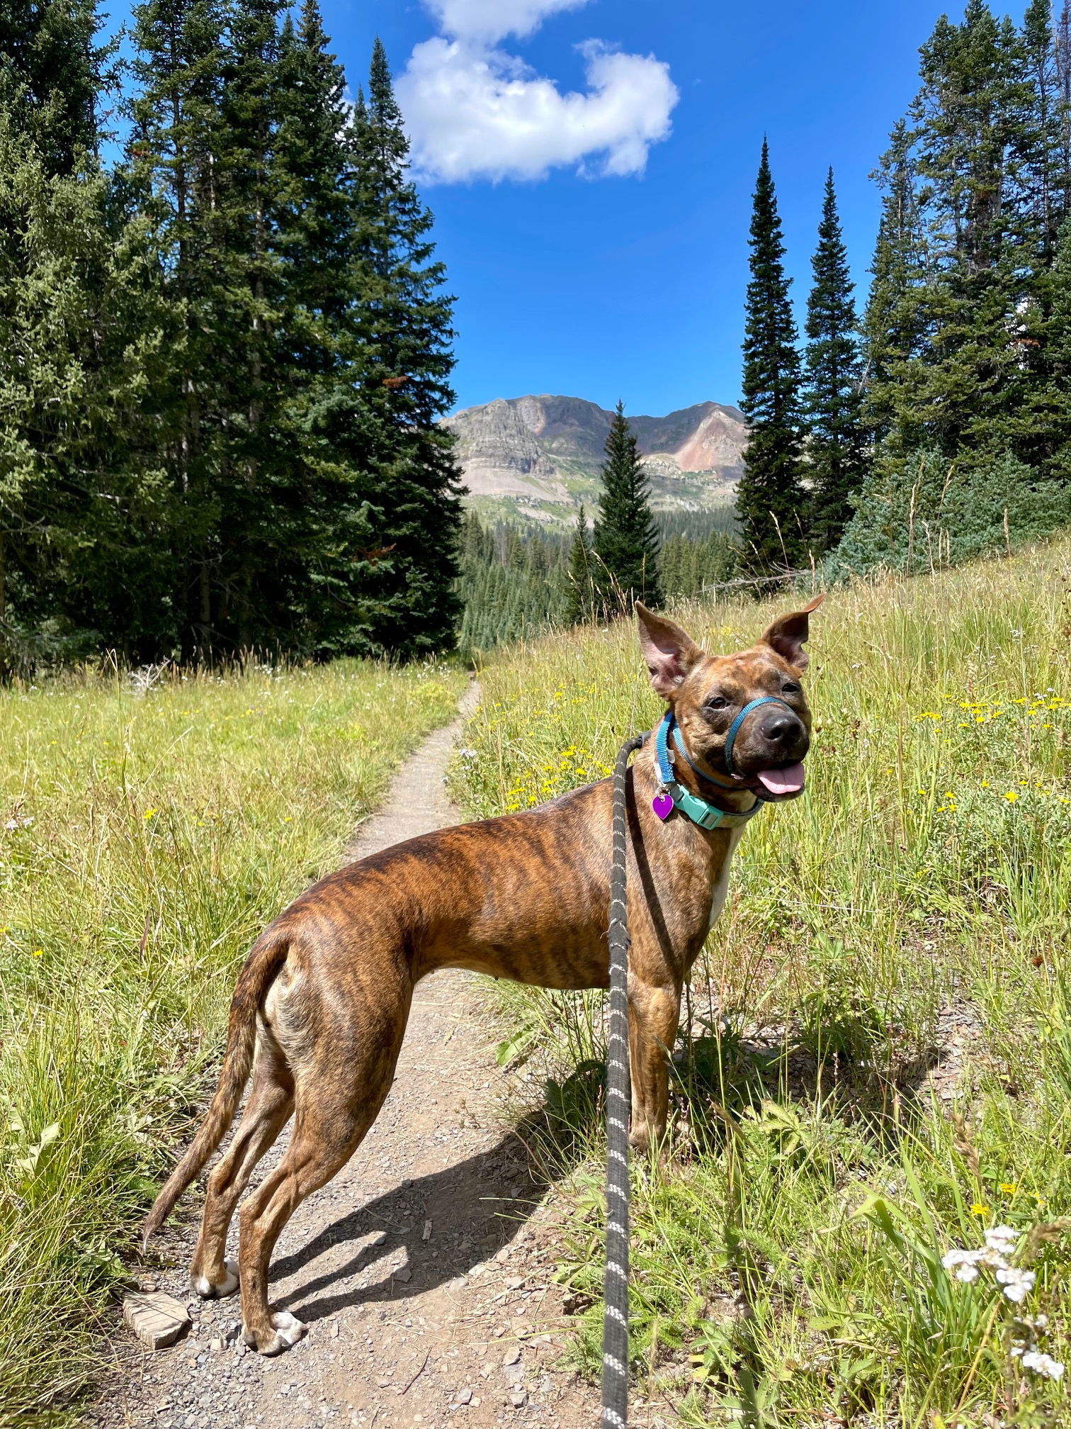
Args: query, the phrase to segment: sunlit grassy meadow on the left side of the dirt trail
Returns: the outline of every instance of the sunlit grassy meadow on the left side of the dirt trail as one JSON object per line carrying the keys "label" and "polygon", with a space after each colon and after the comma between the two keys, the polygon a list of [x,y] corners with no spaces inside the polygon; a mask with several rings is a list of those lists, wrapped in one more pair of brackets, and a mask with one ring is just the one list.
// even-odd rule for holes
{"label": "sunlit grassy meadow on the left side of the dirt trail", "polygon": [[463,684],[340,662],[0,693],[0,1425],[73,1415],[241,957]]}

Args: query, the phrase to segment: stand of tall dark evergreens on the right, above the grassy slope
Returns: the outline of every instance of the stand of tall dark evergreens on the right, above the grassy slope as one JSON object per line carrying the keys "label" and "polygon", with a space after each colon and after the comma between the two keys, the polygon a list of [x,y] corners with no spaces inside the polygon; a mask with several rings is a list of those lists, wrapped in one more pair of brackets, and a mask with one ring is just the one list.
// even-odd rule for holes
{"label": "stand of tall dark evergreens on the right, above the grassy slope", "polygon": [[741,562],[925,569],[1071,520],[1071,6],[970,0],[920,50],[857,307],[827,183],[800,347],[764,146]]}

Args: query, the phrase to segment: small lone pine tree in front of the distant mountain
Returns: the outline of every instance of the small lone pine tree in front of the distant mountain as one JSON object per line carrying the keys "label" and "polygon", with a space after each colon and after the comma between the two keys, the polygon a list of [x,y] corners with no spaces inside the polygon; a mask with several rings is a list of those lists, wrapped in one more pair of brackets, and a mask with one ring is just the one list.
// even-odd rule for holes
{"label": "small lone pine tree in front of the distant mountain", "polygon": [[663,589],[651,487],[623,402],[607,433],[601,479],[593,542],[600,606],[607,613],[631,610],[643,600],[657,609]]}

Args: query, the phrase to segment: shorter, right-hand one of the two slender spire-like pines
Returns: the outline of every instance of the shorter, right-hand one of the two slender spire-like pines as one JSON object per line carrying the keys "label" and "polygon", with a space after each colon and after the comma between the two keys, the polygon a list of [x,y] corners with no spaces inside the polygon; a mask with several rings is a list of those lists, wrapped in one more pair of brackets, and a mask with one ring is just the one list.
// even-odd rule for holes
{"label": "shorter, right-hand one of the two slender spire-like pines", "polygon": [[805,412],[810,429],[811,539],[837,544],[867,467],[855,302],[837,214],[833,169],[825,180],[814,286],[807,299]]}

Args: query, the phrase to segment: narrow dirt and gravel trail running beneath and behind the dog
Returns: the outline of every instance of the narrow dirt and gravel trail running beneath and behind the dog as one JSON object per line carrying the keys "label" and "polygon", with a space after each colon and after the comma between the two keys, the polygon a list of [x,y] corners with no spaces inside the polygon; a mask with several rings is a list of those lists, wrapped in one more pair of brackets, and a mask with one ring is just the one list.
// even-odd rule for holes
{"label": "narrow dirt and gravel trail running beneath and behind the dog", "polygon": [[[476,700],[470,689],[458,720],[424,740],[347,857],[458,822],[443,775]],[[116,1322],[91,1423],[597,1423],[595,1392],[557,1368],[564,1333],[560,1292],[550,1285],[553,1198],[503,1119],[506,1077],[476,987],[461,972],[420,985],[383,1112],[350,1165],[304,1202],[278,1242],[271,1299],[304,1320],[308,1336],[277,1359],[247,1350],[237,1299],[201,1302],[188,1289],[187,1223],[161,1242],[174,1268],[150,1279],[188,1305],[193,1332],[153,1355]],[[284,1145],[264,1159],[254,1185]],[[200,1212],[200,1183],[190,1203]]]}

